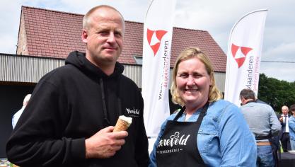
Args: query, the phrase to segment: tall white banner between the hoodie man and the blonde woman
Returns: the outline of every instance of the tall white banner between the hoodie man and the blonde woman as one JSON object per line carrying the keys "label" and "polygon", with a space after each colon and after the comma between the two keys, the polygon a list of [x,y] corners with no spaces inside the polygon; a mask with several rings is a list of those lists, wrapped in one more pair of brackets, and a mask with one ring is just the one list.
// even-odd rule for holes
{"label": "tall white banner between the hoodie man and the blonde woman", "polygon": [[152,0],[144,21],[142,96],[148,137],[157,137],[170,115],[170,48],[176,0]]}

